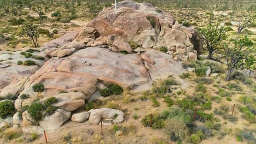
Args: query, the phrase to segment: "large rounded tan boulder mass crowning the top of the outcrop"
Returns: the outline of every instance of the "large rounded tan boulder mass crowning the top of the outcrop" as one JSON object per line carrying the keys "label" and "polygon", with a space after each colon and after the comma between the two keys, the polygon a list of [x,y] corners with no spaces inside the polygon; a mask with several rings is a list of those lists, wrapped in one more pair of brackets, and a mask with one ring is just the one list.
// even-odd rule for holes
{"label": "large rounded tan boulder mass crowning the top of the outcrop", "polygon": [[202,41],[197,37],[195,27],[180,25],[171,14],[148,3],[123,1],[118,3],[118,9],[104,9],[78,34],[77,40],[99,37],[108,37],[111,45],[129,53],[130,41],[143,48],[174,46],[183,49],[182,55],[194,50],[202,52]]}

